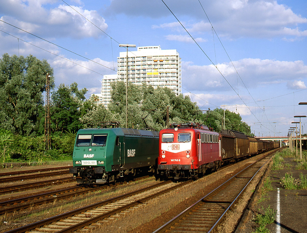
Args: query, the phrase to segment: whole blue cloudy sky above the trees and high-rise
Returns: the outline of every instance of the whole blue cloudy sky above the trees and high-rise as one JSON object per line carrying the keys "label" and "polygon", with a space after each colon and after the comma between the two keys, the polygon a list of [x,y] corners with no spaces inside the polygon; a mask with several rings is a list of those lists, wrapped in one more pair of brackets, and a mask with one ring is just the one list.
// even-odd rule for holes
{"label": "whole blue cloudy sky above the trees and high-rise", "polygon": [[286,135],[293,116],[307,114],[298,105],[307,102],[306,18],[298,0],[2,0],[0,53],[46,59],[56,85],[75,81],[92,94],[116,74],[118,44],[176,49],[182,92],[201,109],[227,105],[256,136]]}

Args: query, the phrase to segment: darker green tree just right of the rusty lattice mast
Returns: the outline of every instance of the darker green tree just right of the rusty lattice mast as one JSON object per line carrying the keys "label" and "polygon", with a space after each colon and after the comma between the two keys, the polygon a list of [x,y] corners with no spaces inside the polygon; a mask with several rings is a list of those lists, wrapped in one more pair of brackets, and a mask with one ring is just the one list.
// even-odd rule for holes
{"label": "darker green tree just right of the rusty lattice mast", "polygon": [[52,93],[50,114],[53,132],[77,132],[82,127],[80,109],[87,90],[79,90],[77,86],[75,82],[70,86],[60,84],[58,90]]}

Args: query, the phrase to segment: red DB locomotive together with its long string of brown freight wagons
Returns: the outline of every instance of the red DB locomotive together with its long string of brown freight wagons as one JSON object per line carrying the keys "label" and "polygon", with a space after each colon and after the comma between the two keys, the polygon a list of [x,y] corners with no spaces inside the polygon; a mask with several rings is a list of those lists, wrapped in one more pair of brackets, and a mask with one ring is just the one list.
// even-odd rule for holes
{"label": "red DB locomotive together with its long string of brown freight wagons", "polygon": [[160,179],[196,179],[226,162],[279,147],[277,142],[259,140],[234,130],[217,133],[192,122],[172,126],[160,131],[157,164]]}

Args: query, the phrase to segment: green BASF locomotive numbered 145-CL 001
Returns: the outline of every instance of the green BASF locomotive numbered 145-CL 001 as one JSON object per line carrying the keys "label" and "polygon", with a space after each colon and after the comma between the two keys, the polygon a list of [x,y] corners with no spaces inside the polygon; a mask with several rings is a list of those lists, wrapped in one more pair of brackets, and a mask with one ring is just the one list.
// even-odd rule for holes
{"label": "green BASF locomotive numbered 145-CL 001", "polygon": [[159,132],[126,128],[92,128],[77,132],[70,173],[78,184],[104,184],[154,171]]}

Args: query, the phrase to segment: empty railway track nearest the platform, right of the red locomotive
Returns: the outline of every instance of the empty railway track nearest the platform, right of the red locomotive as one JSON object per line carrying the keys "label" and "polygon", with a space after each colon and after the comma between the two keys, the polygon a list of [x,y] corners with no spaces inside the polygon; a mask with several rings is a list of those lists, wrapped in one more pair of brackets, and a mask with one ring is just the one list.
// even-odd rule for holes
{"label": "empty railway track nearest the platform, right of the red locomotive", "polygon": [[272,153],[247,166],[153,233],[213,232]]}

